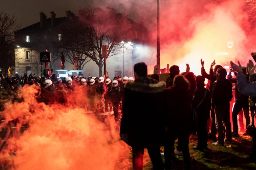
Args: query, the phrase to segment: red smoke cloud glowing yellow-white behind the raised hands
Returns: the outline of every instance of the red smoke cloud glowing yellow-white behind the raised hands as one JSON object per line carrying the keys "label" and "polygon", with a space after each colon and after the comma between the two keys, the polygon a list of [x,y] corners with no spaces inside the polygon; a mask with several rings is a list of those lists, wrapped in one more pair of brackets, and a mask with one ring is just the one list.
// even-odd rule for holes
{"label": "red smoke cloud glowing yellow-white behind the raised hands", "polygon": [[[128,13],[134,20],[146,18],[154,34],[153,53],[148,53],[146,61],[151,74],[156,64],[157,2],[120,0],[120,3],[120,12]],[[118,5],[115,8],[118,9]],[[201,58],[205,60],[206,70],[214,59],[223,66],[228,66],[230,60],[240,60],[245,65],[251,58],[250,53],[256,51],[256,21],[252,21],[255,16],[248,15],[251,8],[248,2],[240,0],[160,0],[161,68],[175,64],[182,72],[188,63],[191,71],[200,74]],[[233,47],[228,48],[231,42]]]}

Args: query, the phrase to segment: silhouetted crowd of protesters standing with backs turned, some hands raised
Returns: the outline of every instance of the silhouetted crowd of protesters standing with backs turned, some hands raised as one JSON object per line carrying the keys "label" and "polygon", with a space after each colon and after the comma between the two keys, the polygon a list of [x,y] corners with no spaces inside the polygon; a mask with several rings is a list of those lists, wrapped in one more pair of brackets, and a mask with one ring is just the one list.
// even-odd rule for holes
{"label": "silhouetted crowd of protesters standing with backs turned, some hands raised", "polygon": [[[121,139],[132,147],[133,169],[143,168],[145,148],[154,169],[171,169],[175,154],[183,155],[184,168],[190,169],[190,134],[197,131],[198,142],[197,146],[193,147],[195,150],[207,151],[208,139],[212,139],[211,145],[222,147],[225,143],[230,144],[232,136],[239,135],[237,115],[242,109],[246,118],[246,131],[243,135],[252,136],[252,149],[248,151],[248,159],[256,161],[256,85],[253,83],[256,81],[256,66],[251,60],[247,67],[237,66],[231,62],[232,67],[227,74],[227,70],[221,65],[213,68],[215,64],[213,61],[208,74],[201,59],[201,75],[197,76],[190,72],[188,64],[186,72],[181,74],[179,66],[173,65],[169,69],[170,77],[166,79],[166,84],[159,82],[159,75],[155,73],[148,77],[145,63],[134,65],[135,81],[128,82],[124,88],[123,117],[120,126]],[[208,79],[207,84],[204,83],[205,78]],[[232,89],[235,90],[233,132],[230,122]],[[133,107],[138,109],[134,110]],[[209,118],[211,125],[207,123]],[[241,124],[240,126],[244,126]],[[178,146],[174,149],[176,139]],[[162,154],[160,146],[164,146]],[[164,164],[162,155],[165,159]]]}

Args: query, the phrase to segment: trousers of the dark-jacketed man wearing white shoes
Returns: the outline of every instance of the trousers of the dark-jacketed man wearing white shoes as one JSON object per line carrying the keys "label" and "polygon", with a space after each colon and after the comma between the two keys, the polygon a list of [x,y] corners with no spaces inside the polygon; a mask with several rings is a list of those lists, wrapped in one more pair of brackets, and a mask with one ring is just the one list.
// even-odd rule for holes
{"label": "trousers of the dark-jacketed man wearing white shoes", "polygon": [[[225,137],[231,140],[231,123],[229,120],[229,103],[225,105],[215,106],[216,114],[216,128],[218,131],[218,141],[220,144],[224,144],[224,126],[226,129]],[[223,126],[224,124],[224,126]]]}

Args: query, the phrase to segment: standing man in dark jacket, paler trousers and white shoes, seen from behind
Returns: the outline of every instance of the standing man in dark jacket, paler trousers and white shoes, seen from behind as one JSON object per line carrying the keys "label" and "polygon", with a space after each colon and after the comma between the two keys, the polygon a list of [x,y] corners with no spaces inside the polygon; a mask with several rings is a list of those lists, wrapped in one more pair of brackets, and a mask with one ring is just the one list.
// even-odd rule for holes
{"label": "standing man in dark jacket, paler trousers and white shoes, seen from behind", "polygon": [[[214,145],[224,146],[224,126],[226,128],[225,141],[231,141],[231,123],[229,120],[229,102],[232,99],[232,84],[226,79],[227,71],[225,68],[218,68],[217,78],[213,83],[212,106],[215,106],[216,127],[218,140]],[[222,123],[223,122],[223,123]]]}

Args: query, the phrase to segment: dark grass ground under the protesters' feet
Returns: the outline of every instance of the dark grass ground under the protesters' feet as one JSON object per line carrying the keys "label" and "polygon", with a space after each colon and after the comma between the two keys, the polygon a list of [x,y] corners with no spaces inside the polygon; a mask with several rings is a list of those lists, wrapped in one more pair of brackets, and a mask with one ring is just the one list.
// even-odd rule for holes
{"label": "dark grass ground under the protesters' feet", "polygon": [[[233,137],[231,143],[226,143],[225,146],[215,146],[212,144],[212,140],[208,141],[207,151],[194,150],[193,146],[197,144],[197,136],[191,135],[189,142],[189,150],[191,155],[191,169],[193,170],[256,170],[256,160],[251,162],[247,159],[250,148],[251,140],[250,136],[243,136],[242,133],[239,134],[239,137]],[[176,145],[176,144],[175,144]],[[124,147],[128,147],[125,146]],[[130,149],[129,147],[126,149]],[[164,147],[161,148],[162,152]],[[132,170],[132,156],[131,152],[127,155],[129,163],[123,165],[122,169]],[[127,159],[126,158],[126,159]],[[125,158],[124,158],[125,159]],[[124,161],[124,159],[121,159]],[[164,161],[164,158],[163,158]],[[143,169],[144,170],[153,170],[149,155],[145,149],[145,155],[143,157]],[[121,168],[121,167],[119,167]],[[119,169],[118,168],[118,169]],[[177,156],[176,159],[172,162],[173,170],[183,169],[183,157]]]}

